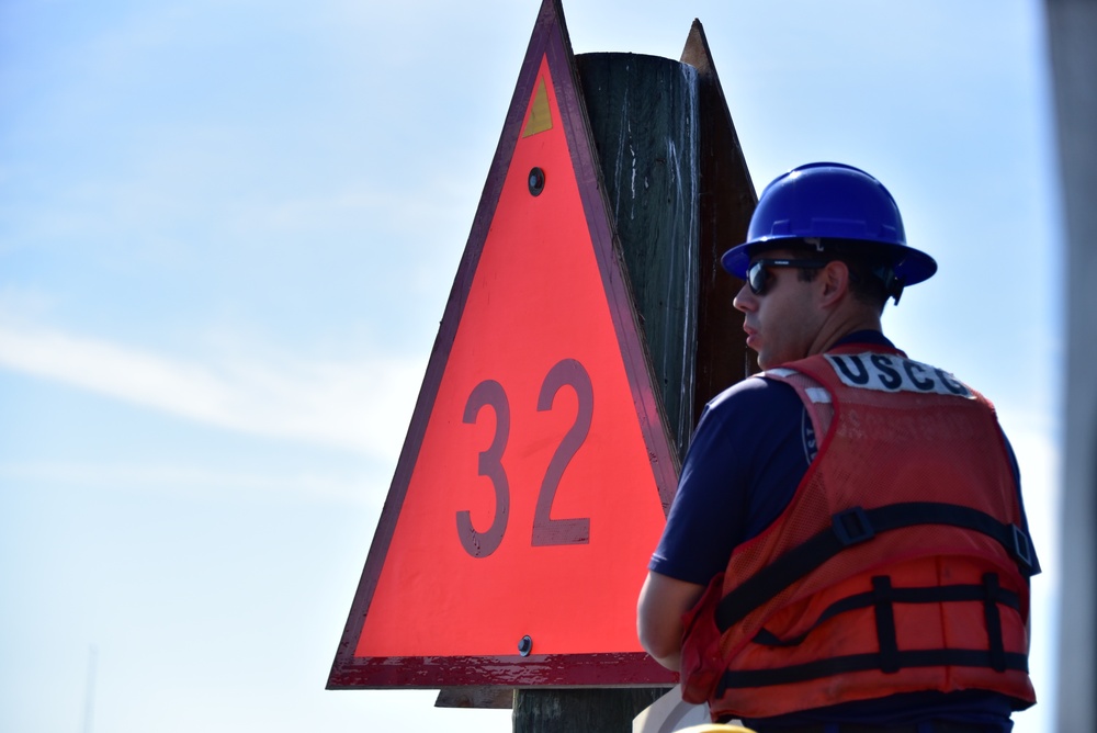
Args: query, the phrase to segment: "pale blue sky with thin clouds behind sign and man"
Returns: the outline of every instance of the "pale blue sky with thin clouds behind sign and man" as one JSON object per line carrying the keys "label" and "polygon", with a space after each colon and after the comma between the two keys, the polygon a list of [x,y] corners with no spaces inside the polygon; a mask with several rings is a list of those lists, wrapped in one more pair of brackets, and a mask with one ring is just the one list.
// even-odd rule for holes
{"label": "pale blue sky with thin clouds behind sign and man", "polygon": [[[0,3],[0,729],[510,730],[324,685],[539,4]],[[828,159],[898,200],[940,272],[885,331],[1017,450],[1045,567],[1017,730],[1050,730],[1042,3],[564,11],[580,54],[678,58],[699,18],[756,187]]]}

